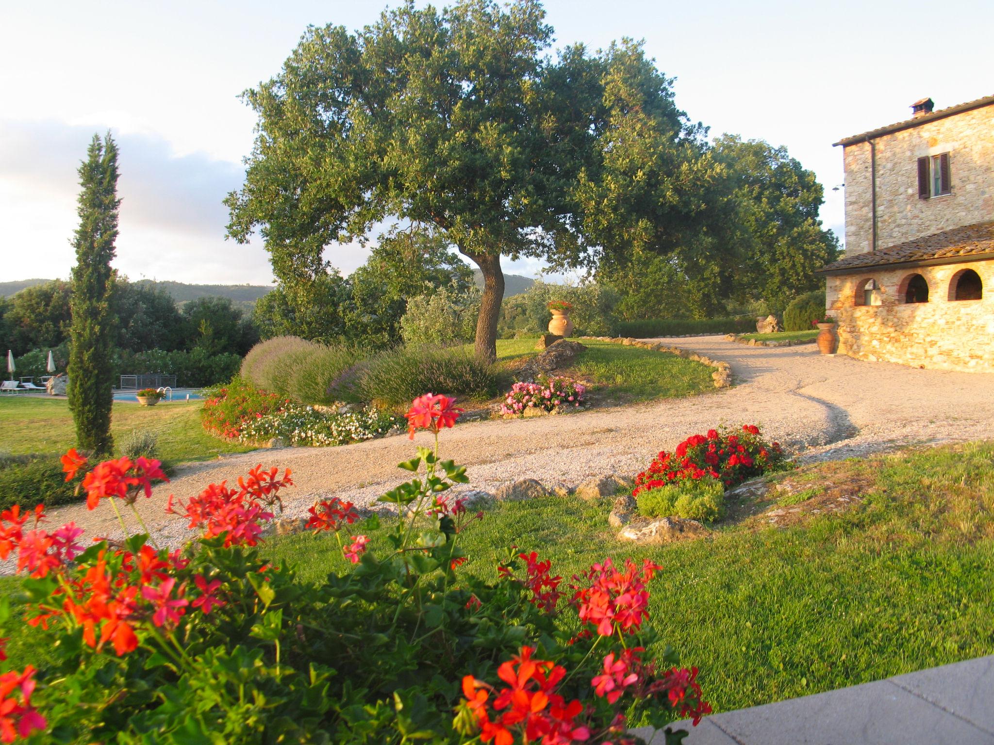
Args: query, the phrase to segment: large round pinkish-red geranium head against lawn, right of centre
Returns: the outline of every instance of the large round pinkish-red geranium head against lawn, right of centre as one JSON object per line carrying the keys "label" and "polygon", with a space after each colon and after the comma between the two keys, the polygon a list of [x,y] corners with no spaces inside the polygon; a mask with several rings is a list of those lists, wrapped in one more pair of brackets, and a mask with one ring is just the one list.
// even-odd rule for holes
{"label": "large round pinkish-red geranium head against lawn, right of centre", "polygon": [[580,610],[580,621],[592,624],[596,633],[609,637],[620,630],[634,634],[649,617],[649,591],[645,584],[662,567],[646,559],[641,568],[628,558],[624,571],[608,558],[593,564],[582,576],[574,576],[582,585],[573,602]]}

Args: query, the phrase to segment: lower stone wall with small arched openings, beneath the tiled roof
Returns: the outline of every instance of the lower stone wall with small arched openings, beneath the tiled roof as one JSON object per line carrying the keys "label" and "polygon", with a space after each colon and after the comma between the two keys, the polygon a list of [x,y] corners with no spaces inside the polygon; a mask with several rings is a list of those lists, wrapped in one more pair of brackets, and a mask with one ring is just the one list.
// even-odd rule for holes
{"label": "lower stone wall with small arched openings, beneath the tiled roof", "polygon": [[[973,269],[983,281],[981,300],[949,300],[950,280]],[[928,302],[904,302],[913,274],[928,283]],[[880,291],[874,303],[856,305],[866,279]],[[994,260],[911,269],[868,269],[829,276],[825,305],[838,322],[839,354],[936,370],[994,373]],[[862,302],[862,300],[861,300]]]}

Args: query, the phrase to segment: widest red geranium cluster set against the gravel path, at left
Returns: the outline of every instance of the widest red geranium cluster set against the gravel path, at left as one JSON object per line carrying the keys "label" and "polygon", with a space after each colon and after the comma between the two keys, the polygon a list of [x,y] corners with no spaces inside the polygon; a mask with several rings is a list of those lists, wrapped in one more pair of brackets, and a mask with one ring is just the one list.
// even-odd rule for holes
{"label": "widest red geranium cluster set against the gravel path, at left", "polygon": [[282,507],[279,490],[292,486],[290,470],[277,478],[278,469],[267,472],[257,465],[248,472],[248,479],[239,479],[239,489],[230,489],[227,482],[210,484],[197,497],[187,504],[180,504],[183,512],[173,507],[173,496],[169,496],[166,512],[181,515],[190,521],[190,527],[202,527],[204,537],[225,535],[225,546],[255,545],[262,532],[261,522],[271,520],[271,510]]}

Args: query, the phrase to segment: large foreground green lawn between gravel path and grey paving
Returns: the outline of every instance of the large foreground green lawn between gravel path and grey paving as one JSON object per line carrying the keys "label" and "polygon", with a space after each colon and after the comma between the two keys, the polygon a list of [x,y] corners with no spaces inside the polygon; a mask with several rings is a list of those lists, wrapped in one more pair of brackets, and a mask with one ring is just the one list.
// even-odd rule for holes
{"label": "large foreground green lawn between gravel path and grey paving", "polygon": [[[701,669],[716,711],[767,703],[994,653],[992,462],[988,443],[820,464],[791,478],[870,480],[863,505],[669,546],[617,543],[606,501],[505,503],[462,538],[464,570],[494,578],[512,542],[565,578],[605,556],[657,561],[651,623]],[[379,536],[372,546],[387,550]],[[333,538],[266,550],[307,579],[345,567]]]}

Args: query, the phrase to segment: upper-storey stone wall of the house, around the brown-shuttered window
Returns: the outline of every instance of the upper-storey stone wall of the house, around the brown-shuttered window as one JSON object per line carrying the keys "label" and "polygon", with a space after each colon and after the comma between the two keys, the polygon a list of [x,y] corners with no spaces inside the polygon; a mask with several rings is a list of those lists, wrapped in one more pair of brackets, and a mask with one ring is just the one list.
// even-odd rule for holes
{"label": "upper-storey stone wall of the house, around the brown-shuttered window", "polygon": [[[994,105],[875,140],[877,248],[994,216]],[[952,194],[918,199],[917,159],[948,152]],[[870,144],[845,148],[846,255],[872,250]]]}

